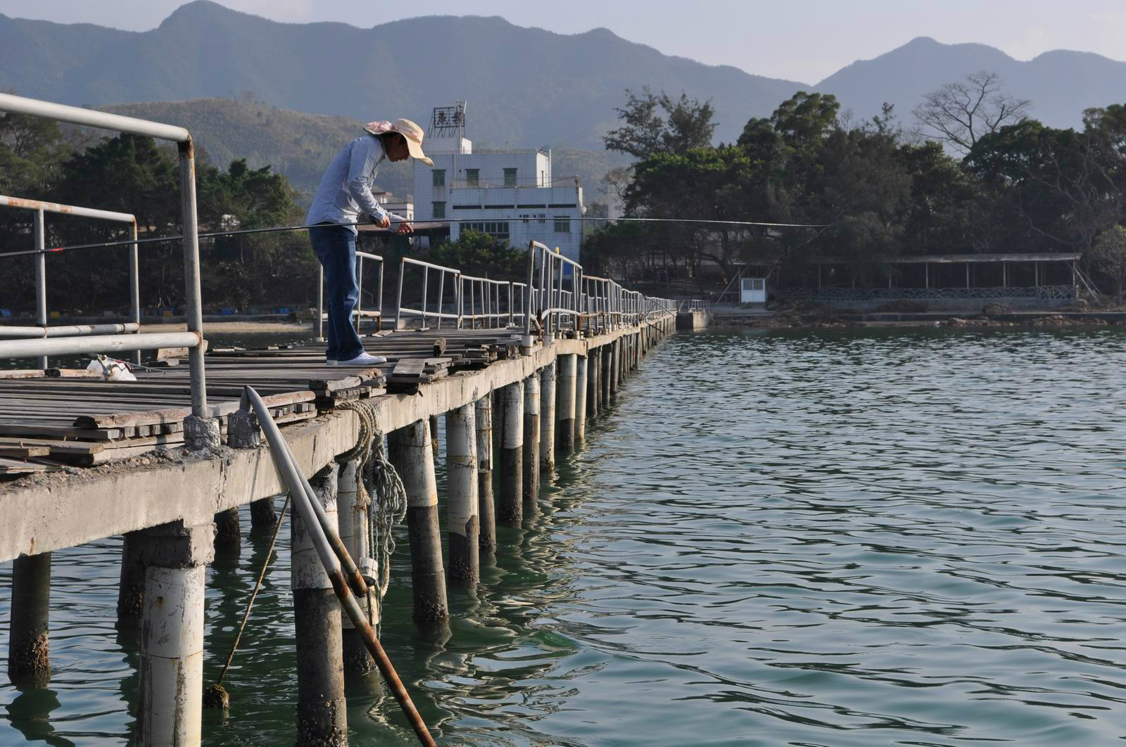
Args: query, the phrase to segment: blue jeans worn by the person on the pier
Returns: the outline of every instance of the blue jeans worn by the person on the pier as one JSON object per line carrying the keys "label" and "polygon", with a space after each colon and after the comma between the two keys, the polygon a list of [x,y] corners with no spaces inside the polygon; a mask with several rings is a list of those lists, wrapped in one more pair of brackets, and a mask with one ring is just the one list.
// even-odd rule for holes
{"label": "blue jeans worn by the person on the pier", "polygon": [[347,226],[318,224],[309,230],[313,253],[324,268],[329,312],[328,360],[351,360],[364,352],[352,328],[352,312],[359,298],[356,284],[356,235]]}

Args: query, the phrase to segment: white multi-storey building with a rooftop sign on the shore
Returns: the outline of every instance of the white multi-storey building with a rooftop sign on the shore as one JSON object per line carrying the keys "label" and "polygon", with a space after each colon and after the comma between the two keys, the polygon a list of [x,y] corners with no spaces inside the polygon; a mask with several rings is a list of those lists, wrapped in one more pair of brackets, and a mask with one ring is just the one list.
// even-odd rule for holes
{"label": "white multi-storey building with a rooftop sign on the shore", "polygon": [[466,228],[515,248],[535,238],[579,261],[582,184],[553,178],[549,150],[474,153],[464,101],[434,110],[423,147],[434,168],[414,162],[415,220],[450,220],[453,241]]}

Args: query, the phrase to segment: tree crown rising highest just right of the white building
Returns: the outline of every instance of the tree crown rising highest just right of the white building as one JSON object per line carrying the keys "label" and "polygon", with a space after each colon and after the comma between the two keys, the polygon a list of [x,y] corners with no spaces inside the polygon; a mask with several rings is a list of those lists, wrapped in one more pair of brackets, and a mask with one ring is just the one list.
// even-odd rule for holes
{"label": "tree crown rising highest just right of the white building", "polygon": [[640,97],[626,89],[626,106],[614,110],[622,126],[602,137],[606,150],[638,159],[707,147],[717,124],[712,120],[715,110],[711,101],[700,104],[683,92],[674,100],[664,91],[653,93],[647,86]]}

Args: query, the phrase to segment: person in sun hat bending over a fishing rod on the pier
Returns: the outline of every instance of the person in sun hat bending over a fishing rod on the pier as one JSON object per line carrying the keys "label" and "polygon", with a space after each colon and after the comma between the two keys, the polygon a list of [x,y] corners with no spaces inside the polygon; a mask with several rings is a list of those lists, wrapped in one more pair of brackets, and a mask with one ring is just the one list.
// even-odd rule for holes
{"label": "person in sun hat bending over a fishing rod on the pier", "polygon": [[356,223],[359,214],[370,216],[381,228],[399,223],[395,233],[413,233],[402,216],[387,213],[372,195],[372,183],[384,159],[418,159],[428,166],[434,161],[422,153],[422,128],[410,119],[373,122],[366,134],[343,146],[324,171],[305,216],[313,253],[324,268],[328,288],[328,366],[375,366],[387,359],[372,356],[352,328],[352,312],[359,298],[356,282]]}

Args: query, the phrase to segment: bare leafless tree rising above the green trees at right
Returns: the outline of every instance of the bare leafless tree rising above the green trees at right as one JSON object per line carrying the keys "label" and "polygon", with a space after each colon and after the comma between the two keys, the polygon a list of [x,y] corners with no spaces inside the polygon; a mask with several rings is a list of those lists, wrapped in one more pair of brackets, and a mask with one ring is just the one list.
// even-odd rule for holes
{"label": "bare leafless tree rising above the green trees at right", "polygon": [[913,114],[929,135],[965,155],[982,135],[1024,120],[1031,109],[1028,99],[1006,96],[1003,82],[985,70],[971,73],[923,96]]}

